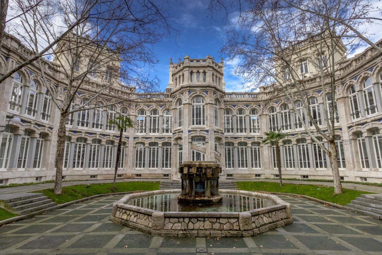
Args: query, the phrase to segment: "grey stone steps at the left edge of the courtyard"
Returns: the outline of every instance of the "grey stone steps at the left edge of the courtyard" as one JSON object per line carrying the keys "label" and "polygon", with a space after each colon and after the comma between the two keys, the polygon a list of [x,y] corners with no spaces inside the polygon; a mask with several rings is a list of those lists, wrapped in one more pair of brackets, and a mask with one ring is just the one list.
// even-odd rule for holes
{"label": "grey stone steps at the left edge of the courtyard", "polygon": [[55,206],[57,203],[42,193],[0,195],[0,208],[18,215],[26,215]]}

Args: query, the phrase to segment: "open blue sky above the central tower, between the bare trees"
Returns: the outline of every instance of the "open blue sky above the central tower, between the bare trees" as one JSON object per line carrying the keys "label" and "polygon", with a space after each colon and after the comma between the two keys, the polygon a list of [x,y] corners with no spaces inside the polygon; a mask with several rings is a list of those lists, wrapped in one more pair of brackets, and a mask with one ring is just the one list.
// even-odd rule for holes
{"label": "open blue sky above the central tower, between the bare trees", "polygon": [[[225,13],[215,13],[214,20],[211,20],[207,5],[204,3],[199,1],[182,2],[172,2],[170,7],[171,24],[180,31],[180,38],[177,40],[166,38],[154,45],[154,52],[159,62],[155,65],[155,70],[151,70],[149,73],[160,79],[160,91],[164,91],[167,87],[170,57],[172,57],[173,62],[178,62],[179,57],[183,61],[185,55],[194,59],[211,55],[218,62],[220,62],[221,57],[224,57],[217,52],[224,43],[225,31],[221,28],[224,25],[222,20]],[[236,16],[235,11],[228,14],[228,18]],[[227,92],[243,91],[242,79],[233,75],[235,63],[236,61],[229,63],[225,61],[224,79]]]}

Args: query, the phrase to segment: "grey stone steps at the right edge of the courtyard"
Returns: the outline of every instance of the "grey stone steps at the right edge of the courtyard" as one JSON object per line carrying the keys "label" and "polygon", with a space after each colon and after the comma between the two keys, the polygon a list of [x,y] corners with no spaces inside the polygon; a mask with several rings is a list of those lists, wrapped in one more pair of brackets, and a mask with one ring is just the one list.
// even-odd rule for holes
{"label": "grey stone steps at the right edge of the courtyard", "polygon": [[351,200],[351,211],[382,220],[382,194],[361,194],[356,200]]}

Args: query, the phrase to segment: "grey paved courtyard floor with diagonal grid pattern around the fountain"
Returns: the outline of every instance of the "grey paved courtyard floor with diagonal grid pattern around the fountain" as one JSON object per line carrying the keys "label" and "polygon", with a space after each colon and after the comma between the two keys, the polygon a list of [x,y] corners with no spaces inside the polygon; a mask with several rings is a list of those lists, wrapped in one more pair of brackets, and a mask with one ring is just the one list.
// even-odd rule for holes
{"label": "grey paved courtyard floor with diagonal grid pattern around the fountain", "polygon": [[104,196],[0,227],[0,254],[382,254],[382,221],[314,201],[292,204],[294,223],[246,238],[163,238],[110,221]]}

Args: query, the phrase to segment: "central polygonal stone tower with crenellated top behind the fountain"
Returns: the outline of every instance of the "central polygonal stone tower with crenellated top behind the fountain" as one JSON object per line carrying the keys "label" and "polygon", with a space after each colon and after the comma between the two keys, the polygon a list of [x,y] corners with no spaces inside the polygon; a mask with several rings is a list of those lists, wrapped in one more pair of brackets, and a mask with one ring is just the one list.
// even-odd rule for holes
{"label": "central polygonal stone tower with crenellated top behind the fountain", "polygon": [[186,161],[217,162],[224,178],[223,98],[224,65],[211,56],[181,62],[170,59],[170,80],[166,92],[171,92],[172,179],[180,179],[178,167]]}

